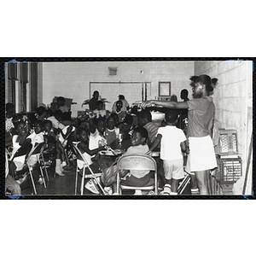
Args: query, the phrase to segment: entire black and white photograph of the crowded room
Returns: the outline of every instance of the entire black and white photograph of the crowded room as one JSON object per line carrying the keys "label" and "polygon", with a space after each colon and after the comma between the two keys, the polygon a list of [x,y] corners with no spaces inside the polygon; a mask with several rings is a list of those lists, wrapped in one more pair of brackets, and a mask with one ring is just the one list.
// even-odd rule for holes
{"label": "entire black and white photograph of the crowded room", "polygon": [[6,196],[253,195],[253,61],[4,64]]}

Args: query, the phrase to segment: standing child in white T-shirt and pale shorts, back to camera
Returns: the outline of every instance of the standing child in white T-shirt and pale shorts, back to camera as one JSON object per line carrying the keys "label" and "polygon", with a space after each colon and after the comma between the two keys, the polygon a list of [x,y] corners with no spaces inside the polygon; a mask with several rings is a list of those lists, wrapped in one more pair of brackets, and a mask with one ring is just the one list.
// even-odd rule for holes
{"label": "standing child in white T-shirt and pale shorts, back to camera", "polygon": [[164,161],[166,184],[163,195],[177,195],[177,185],[183,172],[183,152],[186,152],[186,137],[181,129],[176,127],[177,110],[166,110],[166,126],[160,127],[157,137],[150,148],[154,150],[160,143],[160,159]]}

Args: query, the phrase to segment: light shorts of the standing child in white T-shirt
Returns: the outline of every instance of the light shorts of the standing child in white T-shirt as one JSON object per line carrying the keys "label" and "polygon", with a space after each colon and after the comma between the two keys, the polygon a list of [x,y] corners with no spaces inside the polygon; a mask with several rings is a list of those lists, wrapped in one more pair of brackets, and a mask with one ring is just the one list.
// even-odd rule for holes
{"label": "light shorts of the standing child in white T-shirt", "polygon": [[181,179],[184,177],[183,159],[163,160],[166,179]]}

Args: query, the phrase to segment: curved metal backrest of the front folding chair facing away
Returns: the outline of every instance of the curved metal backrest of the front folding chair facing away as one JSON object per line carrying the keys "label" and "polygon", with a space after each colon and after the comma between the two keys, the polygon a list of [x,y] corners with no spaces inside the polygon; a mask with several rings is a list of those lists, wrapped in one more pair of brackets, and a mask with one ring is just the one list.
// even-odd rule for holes
{"label": "curved metal backrest of the front folding chair facing away", "polygon": [[124,154],[117,163],[119,170],[155,171],[156,162],[147,154]]}

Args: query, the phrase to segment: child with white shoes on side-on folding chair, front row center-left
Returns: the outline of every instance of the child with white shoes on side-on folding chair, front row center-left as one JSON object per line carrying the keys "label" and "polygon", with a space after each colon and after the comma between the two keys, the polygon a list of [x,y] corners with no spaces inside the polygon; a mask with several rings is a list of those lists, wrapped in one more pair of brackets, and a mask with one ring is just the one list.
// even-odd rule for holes
{"label": "child with white shoes on side-on folding chair, front row center-left", "polygon": [[[90,166],[91,170],[94,173],[102,172],[99,166],[97,165],[97,161],[92,162],[91,157],[94,154],[97,154],[99,151],[103,150],[104,147],[99,147],[99,148],[90,150],[88,147],[88,133],[84,127],[79,127],[79,129],[77,130],[77,136],[79,139],[79,143],[77,144],[77,146],[81,151],[81,154],[83,154],[84,159],[86,160],[88,166]],[[81,160],[78,160],[78,167],[81,169],[83,166],[84,166],[84,162]],[[90,172],[86,170],[85,174],[90,174]],[[85,189],[90,190],[94,194],[100,194],[98,189],[96,189],[96,186],[94,185],[94,183],[91,181],[91,179],[89,180],[89,182],[85,184]]]}

